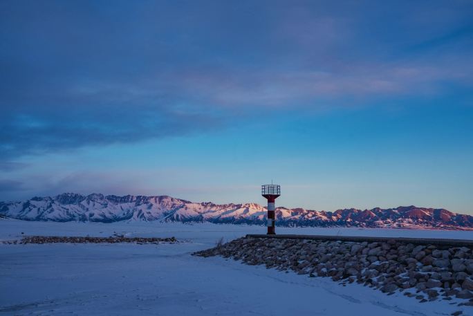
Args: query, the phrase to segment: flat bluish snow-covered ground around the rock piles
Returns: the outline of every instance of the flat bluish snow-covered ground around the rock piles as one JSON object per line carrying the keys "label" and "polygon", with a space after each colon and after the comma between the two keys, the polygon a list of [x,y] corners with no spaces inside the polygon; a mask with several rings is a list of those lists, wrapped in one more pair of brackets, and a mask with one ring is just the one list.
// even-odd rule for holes
{"label": "flat bluish snow-covered ground around the rock piles", "polygon": [[[0,315],[450,315],[473,308],[420,304],[358,284],[308,278],[190,254],[266,227],[181,223],[0,220],[0,239],[24,235],[176,236],[185,243],[0,245]],[[473,239],[473,232],[279,228],[280,234]]]}

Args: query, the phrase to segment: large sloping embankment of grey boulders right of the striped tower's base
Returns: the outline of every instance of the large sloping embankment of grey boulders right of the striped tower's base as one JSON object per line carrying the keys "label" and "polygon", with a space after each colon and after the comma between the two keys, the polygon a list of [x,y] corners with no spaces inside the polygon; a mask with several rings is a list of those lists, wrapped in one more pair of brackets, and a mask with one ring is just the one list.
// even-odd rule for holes
{"label": "large sloping embankment of grey boulders right of the striped tower's base", "polygon": [[[357,282],[382,292],[405,291],[420,301],[468,299],[473,306],[472,248],[414,245],[396,240],[350,242],[244,237],[196,252],[299,275]],[[409,289],[409,290],[407,290]]]}

